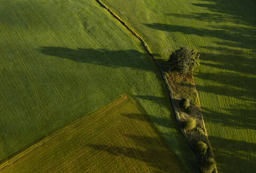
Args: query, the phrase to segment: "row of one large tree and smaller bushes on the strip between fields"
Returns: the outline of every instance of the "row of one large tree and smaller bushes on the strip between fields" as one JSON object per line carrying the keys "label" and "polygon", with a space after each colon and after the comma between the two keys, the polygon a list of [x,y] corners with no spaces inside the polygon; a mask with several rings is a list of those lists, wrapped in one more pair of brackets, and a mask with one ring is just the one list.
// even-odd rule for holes
{"label": "row of one large tree and smaller bushes on the strip between fields", "polygon": [[[191,50],[188,47],[180,47],[180,49],[173,52],[170,56],[167,66],[170,70],[178,71],[182,74],[187,74],[199,65],[199,53],[197,50]],[[181,107],[190,113],[190,99],[181,99]],[[183,122],[183,129],[187,132],[196,129],[197,120],[195,118],[187,118]],[[205,134],[201,133],[204,136]],[[208,147],[206,141],[201,141],[195,138],[193,147],[199,155],[199,169],[202,173],[212,173],[215,170],[216,163],[211,154],[211,149]]]}

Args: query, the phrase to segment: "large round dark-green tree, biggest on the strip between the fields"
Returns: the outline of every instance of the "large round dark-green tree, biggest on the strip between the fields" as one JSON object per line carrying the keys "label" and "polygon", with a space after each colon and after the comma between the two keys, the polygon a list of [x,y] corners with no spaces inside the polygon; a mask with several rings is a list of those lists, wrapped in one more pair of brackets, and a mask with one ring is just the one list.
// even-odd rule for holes
{"label": "large round dark-green tree, biggest on the strip between the fields", "polygon": [[169,67],[170,69],[186,74],[192,71],[195,66],[199,65],[199,56],[197,50],[180,47],[180,49],[171,54]]}

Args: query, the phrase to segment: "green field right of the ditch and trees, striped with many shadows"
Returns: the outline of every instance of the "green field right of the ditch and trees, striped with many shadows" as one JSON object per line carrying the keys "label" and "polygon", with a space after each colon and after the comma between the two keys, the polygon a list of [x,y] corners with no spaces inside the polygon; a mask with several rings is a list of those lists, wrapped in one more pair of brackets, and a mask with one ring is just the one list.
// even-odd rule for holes
{"label": "green field right of the ditch and trees, striped with many shadows", "polygon": [[143,37],[158,62],[180,46],[199,50],[195,80],[217,168],[254,172],[255,1],[102,1]]}

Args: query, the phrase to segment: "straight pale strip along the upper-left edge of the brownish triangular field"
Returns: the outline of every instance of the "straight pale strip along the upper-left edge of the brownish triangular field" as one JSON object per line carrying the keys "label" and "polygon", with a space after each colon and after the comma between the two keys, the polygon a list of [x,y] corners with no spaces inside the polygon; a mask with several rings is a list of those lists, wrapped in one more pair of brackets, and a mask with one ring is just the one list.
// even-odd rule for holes
{"label": "straight pale strip along the upper-left edge of the brownish triangular field", "polygon": [[[12,157],[11,159],[8,159],[6,161],[4,161],[1,165],[0,165],[0,169],[12,164],[12,162],[19,160],[20,158],[22,158],[23,156],[27,155],[29,152],[33,151],[34,149],[38,148],[39,146],[43,145],[44,143],[46,143],[47,141],[55,138],[56,136],[58,136],[59,134],[65,132],[66,130],[68,130],[68,128],[75,126],[76,124],[80,123],[81,121],[85,120],[88,116],[92,116],[93,114],[104,114],[105,112],[108,112],[109,110],[111,110],[112,108],[116,107],[117,105],[121,104],[123,101],[126,101],[128,99],[128,95],[127,94],[121,94],[118,98],[114,99],[113,101],[103,105],[103,107],[99,108],[98,110],[95,110],[94,112],[84,115],[81,118],[78,118],[77,120],[67,124],[67,126],[58,129],[57,131],[49,134],[48,137],[41,139],[39,142],[34,143],[32,146],[25,148],[24,150],[20,151],[19,153],[17,153],[17,155],[15,155],[14,157]],[[107,108],[107,109],[106,109]]]}

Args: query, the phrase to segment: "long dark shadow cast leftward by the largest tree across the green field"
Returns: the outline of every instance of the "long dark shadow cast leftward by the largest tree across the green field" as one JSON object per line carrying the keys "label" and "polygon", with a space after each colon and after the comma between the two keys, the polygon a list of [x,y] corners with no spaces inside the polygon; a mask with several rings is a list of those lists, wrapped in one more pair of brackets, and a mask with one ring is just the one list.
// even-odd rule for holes
{"label": "long dark shadow cast leftward by the largest tree across the green field", "polygon": [[[91,63],[109,68],[133,68],[153,71],[154,61],[146,53],[136,50],[69,49],[65,47],[40,47],[45,55],[57,56],[81,63]],[[151,63],[151,65],[150,65]]]}

